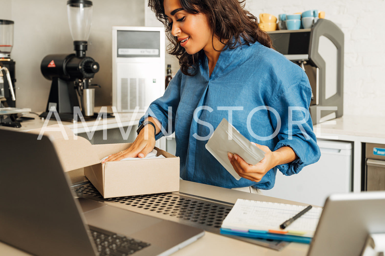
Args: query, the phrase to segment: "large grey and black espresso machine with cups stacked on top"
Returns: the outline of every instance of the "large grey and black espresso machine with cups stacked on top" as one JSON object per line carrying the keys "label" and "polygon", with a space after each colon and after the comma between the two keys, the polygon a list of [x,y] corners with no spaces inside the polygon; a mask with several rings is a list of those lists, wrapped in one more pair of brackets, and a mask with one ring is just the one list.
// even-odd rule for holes
{"label": "large grey and black espresso machine with cups stacked on top", "polygon": [[[344,35],[330,20],[319,19],[312,28],[267,32],[273,47],[299,65],[309,78],[313,125],[343,114]],[[322,107],[322,108],[319,108]],[[318,108],[318,116],[317,116]]]}

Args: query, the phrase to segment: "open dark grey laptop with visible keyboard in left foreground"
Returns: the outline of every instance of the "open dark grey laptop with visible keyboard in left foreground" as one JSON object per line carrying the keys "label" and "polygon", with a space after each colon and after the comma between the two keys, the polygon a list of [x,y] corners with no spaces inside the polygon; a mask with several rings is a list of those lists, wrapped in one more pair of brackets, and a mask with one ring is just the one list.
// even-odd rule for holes
{"label": "open dark grey laptop with visible keyboard in left foreground", "polygon": [[39,256],[169,255],[204,230],[74,198],[49,138],[0,130],[0,240]]}

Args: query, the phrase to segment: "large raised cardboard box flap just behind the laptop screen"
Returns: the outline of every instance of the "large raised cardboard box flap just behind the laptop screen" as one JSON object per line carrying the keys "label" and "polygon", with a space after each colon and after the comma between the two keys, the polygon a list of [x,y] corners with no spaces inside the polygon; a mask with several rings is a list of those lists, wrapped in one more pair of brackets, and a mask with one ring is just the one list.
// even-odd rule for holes
{"label": "large raised cardboard box flap just behind the laptop screen", "polygon": [[[60,128],[60,131],[49,131],[52,128],[57,130]],[[44,136],[48,136],[52,141],[64,171],[72,171],[100,163],[97,151],[91,143],[83,137],[74,136],[72,130],[67,126],[50,125],[30,130],[28,133],[40,134],[42,129],[44,129]],[[42,157],[44,158],[44,156]]]}

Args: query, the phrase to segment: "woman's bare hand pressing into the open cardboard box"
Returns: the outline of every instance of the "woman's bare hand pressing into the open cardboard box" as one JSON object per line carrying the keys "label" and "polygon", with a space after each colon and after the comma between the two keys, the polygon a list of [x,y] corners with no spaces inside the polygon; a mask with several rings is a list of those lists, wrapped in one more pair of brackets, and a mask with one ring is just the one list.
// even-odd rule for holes
{"label": "woman's bare hand pressing into the open cardboard box", "polygon": [[155,146],[154,127],[152,125],[146,125],[139,132],[135,141],[129,148],[119,153],[110,155],[103,163],[107,161],[120,161],[127,157],[139,157],[144,158],[150,153]]}

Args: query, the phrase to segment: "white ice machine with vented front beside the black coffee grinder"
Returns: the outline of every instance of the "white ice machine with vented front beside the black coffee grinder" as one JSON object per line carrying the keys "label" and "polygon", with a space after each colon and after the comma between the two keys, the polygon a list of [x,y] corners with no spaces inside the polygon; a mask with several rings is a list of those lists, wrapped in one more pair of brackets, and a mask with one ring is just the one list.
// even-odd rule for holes
{"label": "white ice machine with vented front beside the black coffee grinder", "polygon": [[112,27],[112,106],[144,112],[164,93],[163,27]]}

